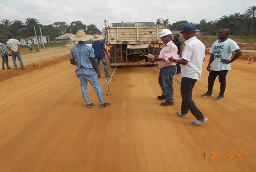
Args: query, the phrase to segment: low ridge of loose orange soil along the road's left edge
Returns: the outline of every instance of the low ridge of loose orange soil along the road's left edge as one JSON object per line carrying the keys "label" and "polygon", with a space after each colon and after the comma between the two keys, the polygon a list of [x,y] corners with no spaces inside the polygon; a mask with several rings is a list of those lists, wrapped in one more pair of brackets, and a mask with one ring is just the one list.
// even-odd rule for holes
{"label": "low ridge of loose orange soil along the road's left edge", "polygon": [[12,78],[14,76],[26,74],[28,72],[33,72],[35,70],[41,70],[47,66],[50,66],[50,65],[62,62],[62,61],[66,61],[66,60],[69,60],[69,54],[62,55],[62,56],[53,56],[53,57],[51,57],[50,60],[40,61],[40,66],[38,65],[38,62],[26,65],[25,70],[21,70],[21,69],[1,70],[0,71],[0,82],[3,80],[6,80],[6,79]]}

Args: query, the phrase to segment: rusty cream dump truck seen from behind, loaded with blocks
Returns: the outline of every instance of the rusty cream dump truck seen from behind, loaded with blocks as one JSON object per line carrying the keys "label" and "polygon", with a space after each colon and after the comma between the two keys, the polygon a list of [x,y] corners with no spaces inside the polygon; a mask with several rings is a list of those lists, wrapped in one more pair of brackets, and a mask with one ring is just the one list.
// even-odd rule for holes
{"label": "rusty cream dump truck seen from behind, loaded with blocks", "polygon": [[112,23],[105,20],[105,42],[109,46],[110,66],[152,65],[143,54],[159,56],[162,46],[160,33],[166,25],[154,22]]}

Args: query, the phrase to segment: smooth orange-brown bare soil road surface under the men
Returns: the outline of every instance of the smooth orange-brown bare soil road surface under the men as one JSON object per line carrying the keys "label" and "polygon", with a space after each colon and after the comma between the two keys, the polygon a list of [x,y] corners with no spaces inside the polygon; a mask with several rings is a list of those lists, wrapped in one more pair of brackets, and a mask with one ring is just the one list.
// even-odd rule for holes
{"label": "smooth orange-brown bare soil road surface under the men", "polygon": [[160,106],[155,67],[117,68],[106,108],[99,107],[89,84],[91,109],[69,61],[18,70],[23,74],[0,82],[0,172],[255,171],[256,63],[233,62],[226,99],[215,101],[218,79],[214,97],[200,97],[207,90],[208,59],[192,95],[209,120],[201,126],[192,126],[191,113],[188,119],[176,115],[176,82],[174,106]]}

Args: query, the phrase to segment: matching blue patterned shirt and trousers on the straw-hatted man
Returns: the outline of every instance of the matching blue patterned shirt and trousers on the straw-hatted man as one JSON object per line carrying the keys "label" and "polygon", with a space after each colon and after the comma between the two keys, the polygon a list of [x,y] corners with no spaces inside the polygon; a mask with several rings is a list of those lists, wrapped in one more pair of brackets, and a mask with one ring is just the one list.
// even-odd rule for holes
{"label": "matching blue patterned shirt and trousers on the straw-hatted man", "polygon": [[96,91],[100,104],[104,104],[102,88],[96,71],[92,67],[90,58],[94,58],[94,51],[89,45],[78,44],[70,49],[70,59],[76,59],[77,61],[76,74],[80,78],[80,86],[85,104],[89,105],[91,103],[87,91],[87,81],[90,82]]}

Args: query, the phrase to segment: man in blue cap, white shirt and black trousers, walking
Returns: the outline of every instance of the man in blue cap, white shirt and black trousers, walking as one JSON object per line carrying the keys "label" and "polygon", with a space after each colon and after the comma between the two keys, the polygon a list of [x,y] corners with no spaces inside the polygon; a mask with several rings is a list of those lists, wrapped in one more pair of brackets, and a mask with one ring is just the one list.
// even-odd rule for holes
{"label": "man in blue cap, white shirt and black trousers, walking", "polygon": [[185,24],[181,31],[183,37],[186,39],[185,47],[182,51],[182,58],[177,60],[173,57],[169,61],[181,64],[181,85],[180,92],[182,97],[181,111],[177,114],[183,118],[188,118],[188,111],[191,111],[195,121],[193,125],[205,123],[208,119],[196,107],[192,100],[192,90],[196,81],[201,77],[202,64],[205,58],[205,45],[195,37],[195,25],[189,23]]}

